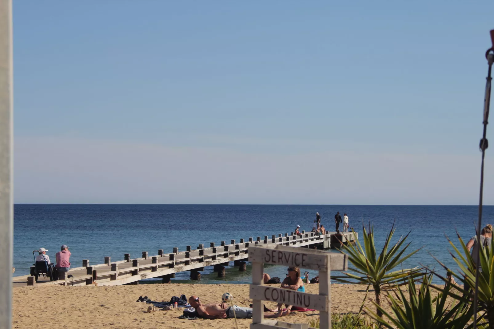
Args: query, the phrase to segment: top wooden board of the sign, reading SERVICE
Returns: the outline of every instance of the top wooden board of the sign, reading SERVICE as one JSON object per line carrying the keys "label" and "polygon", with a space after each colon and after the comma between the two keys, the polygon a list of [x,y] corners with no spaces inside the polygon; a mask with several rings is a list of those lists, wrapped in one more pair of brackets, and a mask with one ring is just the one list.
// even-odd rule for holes
{"label": "top wooden board of the sign, reading SERVICE", "polygon": [[248,248],[248,260],[317,271],[346,271],[348,256],[319,250],[267,245]]}

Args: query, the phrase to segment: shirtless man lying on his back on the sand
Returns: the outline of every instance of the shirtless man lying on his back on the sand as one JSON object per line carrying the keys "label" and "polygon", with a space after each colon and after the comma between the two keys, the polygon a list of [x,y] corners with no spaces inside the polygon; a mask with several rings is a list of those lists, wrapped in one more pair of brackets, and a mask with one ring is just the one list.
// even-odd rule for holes
{"label": "shirtless man lying on his back on the sand", "polygon": [[[225,319],[233,318],[235,309],[235,316],[237,319],[251,319],[252,309],[250,307],[239,307],[234,305],[228,307],[226,303],[208,303],[203,304],[198,296],[191,296],[189,298],[189,304],[194,307],[202,318],[205,319]],[[276,314],[271,312],[264,312],[265,318],[275,317]]]}

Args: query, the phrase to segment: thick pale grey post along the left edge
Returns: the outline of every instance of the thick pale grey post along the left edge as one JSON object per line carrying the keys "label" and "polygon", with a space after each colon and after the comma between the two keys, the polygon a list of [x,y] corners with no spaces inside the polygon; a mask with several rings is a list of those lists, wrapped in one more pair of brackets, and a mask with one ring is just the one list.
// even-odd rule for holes
{"label": "thick pale grey post along the left edge", "polygon": [[12,328],[12,0],[0,0],[0,328]]}

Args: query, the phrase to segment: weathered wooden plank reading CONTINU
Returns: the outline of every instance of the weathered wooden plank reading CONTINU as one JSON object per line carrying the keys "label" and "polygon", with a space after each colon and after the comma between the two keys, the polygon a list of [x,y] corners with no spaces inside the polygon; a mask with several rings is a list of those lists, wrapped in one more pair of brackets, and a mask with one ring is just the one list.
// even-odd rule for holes
{"label": "weathered wooden plank reading CONTINU", "polygon": [[328,296],[269,286],[250,286],[250,298],[328,311]]}

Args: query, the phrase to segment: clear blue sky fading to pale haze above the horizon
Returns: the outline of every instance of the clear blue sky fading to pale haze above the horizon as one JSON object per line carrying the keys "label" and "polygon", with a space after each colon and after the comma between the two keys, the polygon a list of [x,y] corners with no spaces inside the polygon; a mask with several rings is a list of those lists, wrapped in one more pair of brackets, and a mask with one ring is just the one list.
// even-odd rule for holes
{"label": "clear blue sky fading to pale haze above the horizon", "polygon": [[16,203],[478,202],[493,1],[13,10]]}

